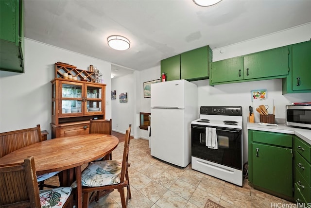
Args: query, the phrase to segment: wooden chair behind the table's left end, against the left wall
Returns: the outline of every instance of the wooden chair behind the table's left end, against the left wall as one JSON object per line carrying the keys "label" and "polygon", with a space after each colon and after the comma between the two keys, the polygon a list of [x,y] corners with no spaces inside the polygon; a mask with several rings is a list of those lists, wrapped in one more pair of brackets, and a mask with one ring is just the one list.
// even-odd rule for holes
{"label": "wooden chair behind the table's left end, against the left wall", "polygon": [[[39,124],[34,128],[0,133],[0,158],[15,150],[41,141],[41,129]],[[59,172],[38,175],[37,181],[39,183],[40,190],[42,190],[43,187],[56,188],[55,186],[44,184],[44,180],[51,178],[57,173]]]}

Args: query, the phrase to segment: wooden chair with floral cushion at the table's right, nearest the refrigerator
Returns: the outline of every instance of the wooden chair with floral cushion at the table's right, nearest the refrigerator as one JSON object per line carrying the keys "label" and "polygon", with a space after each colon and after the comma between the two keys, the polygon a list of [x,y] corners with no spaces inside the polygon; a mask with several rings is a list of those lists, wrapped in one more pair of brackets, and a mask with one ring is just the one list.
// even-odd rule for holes
{"label": "wooden chair with floral cushion at the table's right, nearest the refrigerator", "polygon": [[[128,177],[128,153],[130,147],[131,124],[126,130],[122,160],[104,160],[93,162],[82,172],[83,208],[88,207],[92,194],[97,191],[108,192],[118,189],[121,195],[122,208],[127,208],[128,200],[131,199],[130,182]],[[102,170],[102,171],[99,171]],[[92,177],[89,177],[92,175]],[[98,179],[96,181],[92,179]],[[87,180],[90,179],[90,180]],[[124,187],[127,188],[125,198]],[[98,195],[96,201],[98,201]]]}

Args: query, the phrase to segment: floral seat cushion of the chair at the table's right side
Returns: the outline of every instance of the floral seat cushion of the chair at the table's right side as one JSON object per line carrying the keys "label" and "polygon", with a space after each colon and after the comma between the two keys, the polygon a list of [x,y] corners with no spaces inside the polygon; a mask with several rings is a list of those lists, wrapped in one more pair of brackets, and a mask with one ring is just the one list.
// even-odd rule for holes
{"label": "floral seat cushion of the chair at the table's right side", "polygon": [[[120,183],[122,160],[92,162],[82,172],[82,186],[98,187]],[[77,186],[76,181],[71,185]]]}

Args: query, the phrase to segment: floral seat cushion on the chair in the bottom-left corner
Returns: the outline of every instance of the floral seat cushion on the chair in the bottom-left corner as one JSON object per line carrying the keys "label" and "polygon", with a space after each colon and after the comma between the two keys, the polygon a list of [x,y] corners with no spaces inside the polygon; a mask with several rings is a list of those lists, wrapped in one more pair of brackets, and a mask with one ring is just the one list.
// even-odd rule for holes
{"label": "floral seat cushion on the chair in the bottom-left corner", "polygon": [[62,208],[71,193],[71,187],[40,190],[41,208]]}

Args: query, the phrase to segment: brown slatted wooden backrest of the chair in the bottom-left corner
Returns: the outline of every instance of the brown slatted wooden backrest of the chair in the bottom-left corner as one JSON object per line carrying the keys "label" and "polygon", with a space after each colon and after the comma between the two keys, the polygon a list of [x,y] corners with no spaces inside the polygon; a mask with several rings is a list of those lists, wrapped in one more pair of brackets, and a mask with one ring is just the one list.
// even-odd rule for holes
{"label": "brown slatted wooden backrest of the chair in the bottom-left corner", "polygon": [[41,207],[33,156],[24,163],[0,166],[0,182],[0,208]]}

